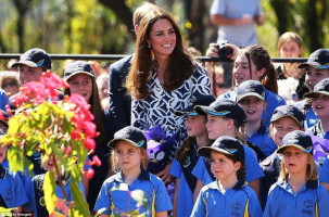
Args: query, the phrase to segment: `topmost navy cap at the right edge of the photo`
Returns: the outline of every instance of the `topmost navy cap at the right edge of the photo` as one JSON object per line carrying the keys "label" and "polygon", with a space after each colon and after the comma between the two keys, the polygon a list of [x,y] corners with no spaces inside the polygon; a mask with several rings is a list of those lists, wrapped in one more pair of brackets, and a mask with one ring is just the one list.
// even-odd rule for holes
{"label": "topmost navy cap at the right edge of the photo", "polygon": [[299,65],[299,68],[313,66],[316,68],[329,68],[329,49],[318,49],[311,53],[306,63]]}

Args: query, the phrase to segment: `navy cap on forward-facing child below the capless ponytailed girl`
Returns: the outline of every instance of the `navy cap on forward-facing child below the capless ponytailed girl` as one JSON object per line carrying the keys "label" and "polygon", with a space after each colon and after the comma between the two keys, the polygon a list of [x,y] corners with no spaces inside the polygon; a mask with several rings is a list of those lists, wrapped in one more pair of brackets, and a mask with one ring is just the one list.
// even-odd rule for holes
{"label": "navy cap on forward-facing child below the capless ponytailed girl", "polygon": [[237,90],[237,101],[245,97],[257,97],[265,101],[265,88],[258,80],[245,80],[239,85]]}

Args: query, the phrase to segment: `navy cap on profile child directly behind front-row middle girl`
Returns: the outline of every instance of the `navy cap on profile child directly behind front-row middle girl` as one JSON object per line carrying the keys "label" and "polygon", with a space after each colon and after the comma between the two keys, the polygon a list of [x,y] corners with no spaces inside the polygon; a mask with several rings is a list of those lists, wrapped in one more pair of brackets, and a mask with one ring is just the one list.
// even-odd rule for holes
{"label": "navy cap on profile child directly behind front-row middle girl", "polygon": [[210,114],[219,117],[227,117],[235,120],[238,128],[241,127],[242,124],[246,123],[246,114],[243,107],[230,99],[216,100],[208,106],[197,105],[194,111],[201,115]]}

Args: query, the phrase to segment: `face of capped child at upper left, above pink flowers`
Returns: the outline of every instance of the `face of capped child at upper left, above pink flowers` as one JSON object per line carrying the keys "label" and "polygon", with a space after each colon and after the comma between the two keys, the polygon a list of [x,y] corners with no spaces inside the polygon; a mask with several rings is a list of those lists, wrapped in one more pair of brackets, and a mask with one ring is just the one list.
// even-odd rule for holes
{"label": "face of capped child at upper left, above pink flowers", "polygon": [[18,66],[20,81],[24,86],[26,82],[40,81],[43,71],[40,67]]}

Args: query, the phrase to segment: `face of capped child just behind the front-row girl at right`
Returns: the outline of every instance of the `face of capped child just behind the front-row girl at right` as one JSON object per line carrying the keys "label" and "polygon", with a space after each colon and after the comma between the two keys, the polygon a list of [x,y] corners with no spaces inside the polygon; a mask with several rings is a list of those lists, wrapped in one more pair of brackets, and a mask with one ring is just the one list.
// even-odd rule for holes
{"label": "face of capped child just behind the front-row girl at right", "polygon": [[291,117],[281,117],[271,124],[271,139],[278,145],[282,145],[283,137],[291,131],[301,129],[300,125]]}

